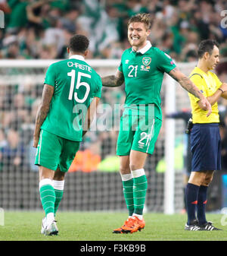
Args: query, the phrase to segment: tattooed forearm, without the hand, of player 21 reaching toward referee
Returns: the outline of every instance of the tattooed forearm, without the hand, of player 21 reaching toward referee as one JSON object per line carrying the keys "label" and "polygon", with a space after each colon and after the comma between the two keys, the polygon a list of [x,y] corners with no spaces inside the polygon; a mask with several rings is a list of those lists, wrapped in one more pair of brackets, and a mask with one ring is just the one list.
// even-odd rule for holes
{"label": "tattooed forearm, without the hand, of player 21 reaching toward referee", "polygon": [[169,72],[169,75],[173,77],[179,84],[188,91],[188,93],[193,94],[197,98],[201,98],[201,91],[191,82],[191,80],[185,76],[178,68],[173,68],[172,71]]}

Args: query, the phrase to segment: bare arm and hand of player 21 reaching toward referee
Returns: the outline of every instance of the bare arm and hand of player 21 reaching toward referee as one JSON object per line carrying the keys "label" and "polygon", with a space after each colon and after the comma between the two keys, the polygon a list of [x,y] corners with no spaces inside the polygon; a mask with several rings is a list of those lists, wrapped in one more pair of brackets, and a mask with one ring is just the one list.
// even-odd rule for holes
{"label": "bare arm and hand of player 21 reaching toward referee", "polygon": [[201,100],[201,108],[207,110],[207,116],[209,116],[212,112],[211,105],[207,98],[204,96],[203,93],[192,83],[192,81],[185,76],[178,68],[173,68],[172,71],[169,72],[169,75],[173,77],[179,84],[188,91],[188,93],[193,94],[198,99]]}

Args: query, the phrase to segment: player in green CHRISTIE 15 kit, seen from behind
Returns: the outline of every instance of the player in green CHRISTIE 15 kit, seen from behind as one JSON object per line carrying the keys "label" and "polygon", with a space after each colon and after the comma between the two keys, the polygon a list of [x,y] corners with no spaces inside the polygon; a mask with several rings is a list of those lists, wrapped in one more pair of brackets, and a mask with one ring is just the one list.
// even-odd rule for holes
{"label": "player in green CHRISTIE 15 kit, seen from behind", "polygon": [[57,235],[54,220],[64,191],[64,175],[79,150],[101,97],[101,77],[86,63],[89,40],[75,35],[70,58],[49,66],[36,114],[33,147],[39,166],[39,193],[45,217],[41,232]]}

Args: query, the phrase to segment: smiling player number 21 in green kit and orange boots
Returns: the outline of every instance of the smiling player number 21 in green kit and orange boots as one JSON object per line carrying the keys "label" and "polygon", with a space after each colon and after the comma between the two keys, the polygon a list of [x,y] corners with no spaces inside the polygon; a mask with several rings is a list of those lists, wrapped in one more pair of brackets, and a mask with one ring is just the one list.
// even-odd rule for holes
{"label": "smiling player number 21 in green kit and orange boots", "polygon": [[[143,209],[148,183],[145,160],[154,151],[161,127],[160,89],[166,72],[185,90],[201,100],[210,115],[211,106],[198,88],[176,68],[173,60],[148,42],[151,33],[149,14],[136,14],[128,22],[128,40],[132,46],[123,52],[115,75],[102,77],[105,87],[125,83],[125,110],[120,120],[117,155],[129,218],[113,229],[114,233],[137,232],[145,227]],[[153,107],[149,107],[153,106]],[[148,111],[150,109],[150,111]],[[136,127],[137,125],[137,127]]]}

